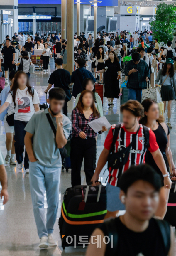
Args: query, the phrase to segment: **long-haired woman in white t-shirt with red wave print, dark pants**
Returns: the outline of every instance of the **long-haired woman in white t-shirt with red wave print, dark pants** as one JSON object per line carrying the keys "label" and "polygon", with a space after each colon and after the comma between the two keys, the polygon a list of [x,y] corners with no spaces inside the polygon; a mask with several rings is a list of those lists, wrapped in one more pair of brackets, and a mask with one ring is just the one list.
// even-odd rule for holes
{"label": "long-haired woman in white t-shirt with red wave print, dark pants", "polygon": [[[15,130],[15,153],[17,160],[17,168],[23,168],[23,152],[24,152],[24,130],[26,124],[31,119],[35,111],[39,108],[39,97],[35,89],[28,84],[28,76],[24,71],[19,71],[15,75],[13,86],[7,96],[6,102],[0,108],[0,114],[14,102],[14,130]],[[24,157],[24,168],[26,173],[29,172],[29,159],[27,152]]]}

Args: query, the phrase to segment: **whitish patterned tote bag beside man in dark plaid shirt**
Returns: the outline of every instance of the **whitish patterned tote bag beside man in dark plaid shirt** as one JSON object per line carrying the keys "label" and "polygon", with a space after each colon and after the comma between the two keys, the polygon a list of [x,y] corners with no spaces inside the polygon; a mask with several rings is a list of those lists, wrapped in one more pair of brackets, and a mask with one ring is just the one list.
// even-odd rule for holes
{"label": "whitish patterned tote bag beside man in dark plaid shirt", "polygon": [[146,89],[142,89],[142,102],[145,99],[151,99],[155,100],[157,103],[162,102],[161,94],[160,94],[160,89],[159,88],[152,88],[151,84],[149,82],[148,86]]}

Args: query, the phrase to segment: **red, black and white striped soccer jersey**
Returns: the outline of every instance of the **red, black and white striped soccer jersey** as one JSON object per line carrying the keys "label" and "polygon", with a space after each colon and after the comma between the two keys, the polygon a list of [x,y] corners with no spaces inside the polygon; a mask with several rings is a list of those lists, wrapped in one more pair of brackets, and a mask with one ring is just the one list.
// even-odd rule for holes
{"label": "red, black and white striped soccer jersey", "polygon": [[[109,133],[105,139],[104,147],[107,150],[110,150],[112,140],[113,140],[113,130],[116,126],[112,125],[111,129],[109,130]],[[148,150],[152,153],[155,152],[159,146],[156,142],[156,137],[153,131],[149,130],[149,147]],[[133,140],[133,136],[135,136],[136,132],[128,132],[123,124],[121,124],[121,128],[119,130],[118,138],[115,144],[115,152],[120,151],[123,147],[128,147],[129,144]],[[128,156],[128,161],[126,164],[123,165],[123,167],[119,169],[111,169],[109,168],[109,180],[108,182],[113,186],[119,186],[119,178],[121,177],[121,174],[128,170],[128,168],[131,165],[138,165],[145,163],[145,154],[146,154],[147,148],[145,146],[145,136],[143,131],[143,126],[140,124],[139,132],[136,136],[136,142],[133,143],[131,146],[131,150]]]}

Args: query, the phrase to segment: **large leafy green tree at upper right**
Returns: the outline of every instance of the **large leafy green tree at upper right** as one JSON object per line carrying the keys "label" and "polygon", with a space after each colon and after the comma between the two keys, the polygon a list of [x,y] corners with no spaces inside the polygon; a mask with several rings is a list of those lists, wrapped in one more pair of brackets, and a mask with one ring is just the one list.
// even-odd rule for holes
{"label": "large leafy green tree at upper right", "polygon": [[150,18],[149,24],[154,39],[158,38],[158,43],[167,45],[167,41],[172,41],[175,32],[176,9],[174,5],[158,4],[155,19]]}

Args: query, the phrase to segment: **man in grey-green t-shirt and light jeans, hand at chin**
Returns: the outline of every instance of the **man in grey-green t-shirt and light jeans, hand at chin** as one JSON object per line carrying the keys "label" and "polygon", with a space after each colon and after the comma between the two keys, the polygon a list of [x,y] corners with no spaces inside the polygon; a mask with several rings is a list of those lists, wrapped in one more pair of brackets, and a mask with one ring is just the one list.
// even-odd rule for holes
{"label": "man in grey-green t-shirt and light jeans, hand at chin", "polygon": [[[54,87],[49,92],[48,109],[35,112],[25,127],[25,146],[29,157],[29,183],[40,248],[56,246],[53,226],[59,203],[62,149],[69,137],[71,122],[62,114],[66,94]],[[32,143],[33,137],[33,143]],[[48,203],[45,220],[44,197]]]}

